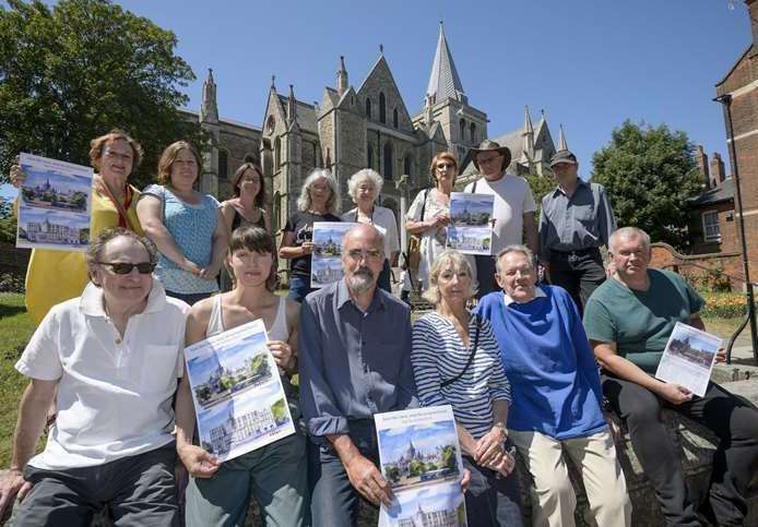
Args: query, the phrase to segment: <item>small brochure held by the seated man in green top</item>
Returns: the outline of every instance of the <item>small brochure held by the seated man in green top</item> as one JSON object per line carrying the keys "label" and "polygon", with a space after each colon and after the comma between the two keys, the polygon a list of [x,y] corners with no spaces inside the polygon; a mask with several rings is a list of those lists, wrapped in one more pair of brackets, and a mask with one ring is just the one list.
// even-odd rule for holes
{"label": "small brochure held by the seated man in green top", "polygon": [[711,379],[721,338],[677,322],[668,337],[655,379],[679,386],[702,397]]}

